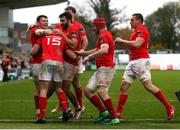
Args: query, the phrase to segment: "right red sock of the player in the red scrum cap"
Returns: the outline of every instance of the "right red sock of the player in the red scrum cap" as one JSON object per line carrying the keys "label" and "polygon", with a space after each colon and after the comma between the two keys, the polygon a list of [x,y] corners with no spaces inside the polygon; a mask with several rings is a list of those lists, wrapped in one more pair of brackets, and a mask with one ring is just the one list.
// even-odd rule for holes
{"label": "right red sock of the player in the red scrum cap", "polygon": [[112,100],[111,100],[110,98],[107,99],[106,101],[104,101],[104,105],[106,106],[107,110],[108,110],[109,113],[110,113],[110,118],[111,118],[111,119],[116,118],[116,112],[115,112],[115,110],[114,110]]}

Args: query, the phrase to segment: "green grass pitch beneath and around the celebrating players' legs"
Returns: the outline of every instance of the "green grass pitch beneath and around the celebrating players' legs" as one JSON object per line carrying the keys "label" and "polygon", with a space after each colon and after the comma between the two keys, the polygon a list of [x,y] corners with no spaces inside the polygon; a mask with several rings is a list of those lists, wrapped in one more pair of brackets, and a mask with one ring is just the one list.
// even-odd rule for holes
{"label": "green grass pitch beneath and around the celebrating players' legs", "polygon": [[[81,76],[81,84],[86,85],[93,71],[87,71]],[[119,84],[123,71],[117,71],[110,87],[110,96],[114,106],[117,105]],[[123,111],[124,119],[119,125],[103,126],[94,124],[98,110],[84,98],[86,110],[82,119],[63,123],[57,117],[61,115],[50,113],[57,104],[54,94],[48,100],[47,124],[34,124],[33,81],[17,80],[0,83],[0,128],[8,129],[180,129],[180,102],[174,92],[180,90],[180,71],[152,71],[152,81],[166,95],[176,107],[176,116],[172,121],[166,120],[166,111],[163,105],[148,93],[139,81],[135,81],[129,89],[129,98]]]}

